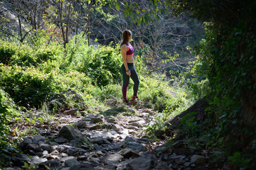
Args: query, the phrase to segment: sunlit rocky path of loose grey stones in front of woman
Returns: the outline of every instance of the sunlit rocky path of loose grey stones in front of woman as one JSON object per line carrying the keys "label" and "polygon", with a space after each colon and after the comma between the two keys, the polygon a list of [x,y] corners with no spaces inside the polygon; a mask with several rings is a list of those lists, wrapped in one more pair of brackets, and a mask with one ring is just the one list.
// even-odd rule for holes
{"label": "sunlit rocky path of loose grey stones in front of woman", "polygon": [[218,169],[209,163],[208,151],[189,148],[183,140],[171,147],[149,140],[144,133],[146,125],[154,123],[149,109],[128,107],[119,115],[73,113],[60,115],[54,129],[24,139],[23,154],[5,157],[14,162],[6,170],[25,169],[24,162],[30,169]]}

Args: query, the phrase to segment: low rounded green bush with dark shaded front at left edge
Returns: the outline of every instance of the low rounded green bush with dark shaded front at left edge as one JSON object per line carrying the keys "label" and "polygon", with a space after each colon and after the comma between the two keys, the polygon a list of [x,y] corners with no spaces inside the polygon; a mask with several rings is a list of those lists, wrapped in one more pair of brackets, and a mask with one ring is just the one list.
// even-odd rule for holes
{"label": "low rounded green bush with dark shaded front at left edge", "polygon": [[0,66],[0,86],[21,106],[41,106],[41,102],[52,98],[61,90],[56,86],[53,74],[43,74],[33,67]]}

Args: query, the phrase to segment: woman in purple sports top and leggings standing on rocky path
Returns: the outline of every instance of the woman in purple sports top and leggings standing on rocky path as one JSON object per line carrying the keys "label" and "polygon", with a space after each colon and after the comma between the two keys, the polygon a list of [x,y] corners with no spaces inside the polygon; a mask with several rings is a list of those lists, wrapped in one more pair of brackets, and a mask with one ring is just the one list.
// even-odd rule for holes
{"label": "woman in purple sports top and leggings standing on rocky path", "polygon": [[123,102],[129,105],[129,101],[127,100],[127,86],[129,85],[129,78],[132,78],[134,81],[134,95],[132,96],[132,101],[134,101],[137,97],[137,91],[139,89],[139,78],[134,66],[134,48],[129,43],[132,40],[132,32],[130,30],[124,30],[122,33],[123,42],[120,45],[121,53],[122,53],[122,74],[123,74],[123,85],[122,85],[122,94],[123,94]]}

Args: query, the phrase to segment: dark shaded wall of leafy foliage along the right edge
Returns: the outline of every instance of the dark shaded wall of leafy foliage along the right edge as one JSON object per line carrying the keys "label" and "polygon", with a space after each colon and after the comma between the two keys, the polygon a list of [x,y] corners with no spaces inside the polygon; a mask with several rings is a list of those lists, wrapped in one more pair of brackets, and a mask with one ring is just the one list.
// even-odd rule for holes
{"label": "dark shaded wall of leafy foliage along the right edge", "polygon": [[196,91],[206,91],[199,91],[197,96],[206,94],[210,103],[211,116],[205,123],[216,127],[208,132],[219,138],[211,145],[222,144],[225,139],[228,161],[234,168],[252,169],[255,164],[248,159],[252,154],[241,151],[246,147],[255,154],[250,145],[256,125],[255,1],[222,1],[222,8],[213,8],[219,1],[170,2],[176,13],[189,12],[207,21],[206,38],[195,48],[198,62],[192,67],[192,76],[198,79],[190,82]]}

